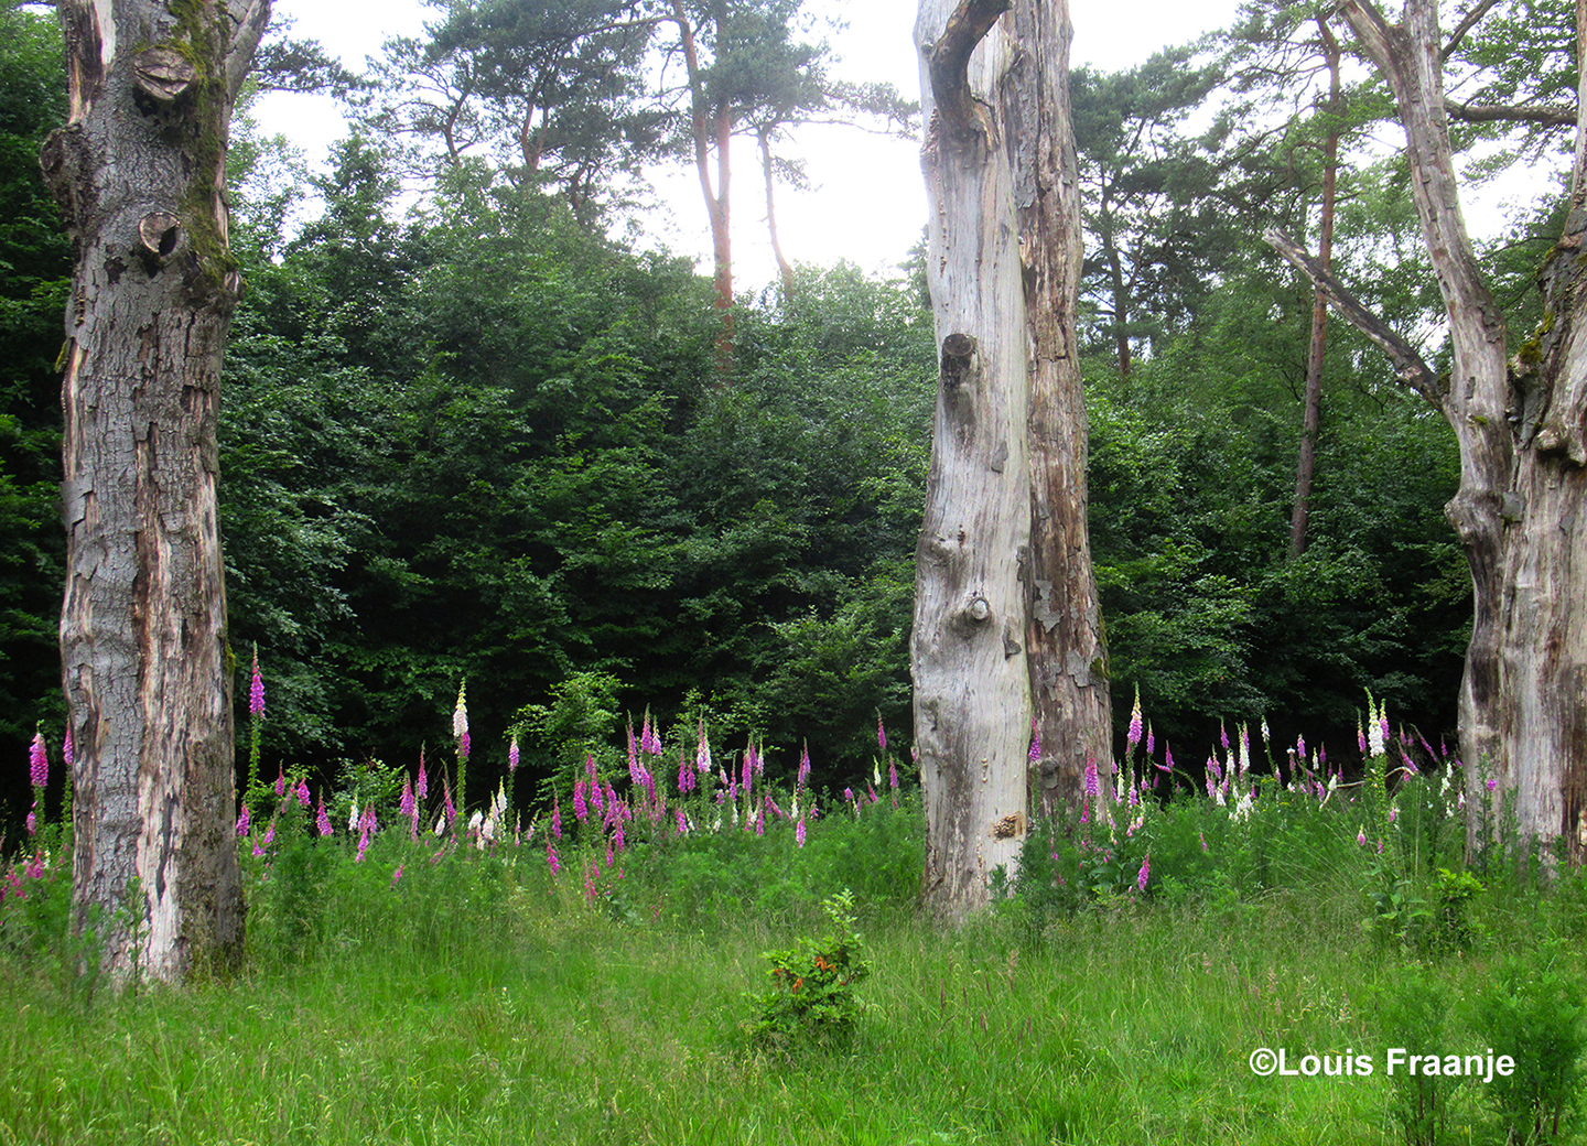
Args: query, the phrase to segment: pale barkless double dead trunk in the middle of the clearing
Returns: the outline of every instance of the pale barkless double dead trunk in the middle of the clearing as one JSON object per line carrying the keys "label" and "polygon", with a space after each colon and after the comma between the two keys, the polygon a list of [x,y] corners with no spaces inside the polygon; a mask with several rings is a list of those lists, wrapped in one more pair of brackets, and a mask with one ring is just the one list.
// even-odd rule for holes
{"label": "pale barkless double dead trunk in the middle of the clearing", "polygon": [[[916,25],[940,384],[911,665],[924,900],[947,919],[986,902],[995,867],[1014,868],[1033,789],[1046,790],[1047,762],[1032,768],[1027,751],[1032,675],[1043,721],[1093,716],[1098,694],[1106,721],[1100,641],[1090,640],[1086,425],[1084,414],[1066,421],[1078,403],[1063,408],[1078,395],[1074,311],[1063,306],[1079,270],[1068,10],[1019,0],[1005,16],[1009,8],[922,0]],[[1076,673],[1066,643],[1087,649]],[[1033,663],[1046,656],[1062,657],[1055,671]],[[1076,683],[1089,706],[1070,695]],[[1106,744],[1105,730],[1084,735]],[[1065,729],[1054,740],[1084,735]]]}

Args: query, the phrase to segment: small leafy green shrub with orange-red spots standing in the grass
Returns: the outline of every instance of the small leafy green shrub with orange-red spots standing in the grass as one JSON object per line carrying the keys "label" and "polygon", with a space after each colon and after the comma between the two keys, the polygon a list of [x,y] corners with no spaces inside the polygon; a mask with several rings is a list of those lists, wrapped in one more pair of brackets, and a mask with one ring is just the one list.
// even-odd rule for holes
{"label": "small leafy green shrub with orange-red spots standing in the grass", "polygon": [[771,963],[771,990],[759,998],[759,1017],[749,1029],[759,1051],[844,1044],[854,1033],[860,1011],[854,984],[871,973],[854,930],[854,895],[840,892],[822,908],[832,921],[825,938],[801,938],[792,951],[763,956]]}

